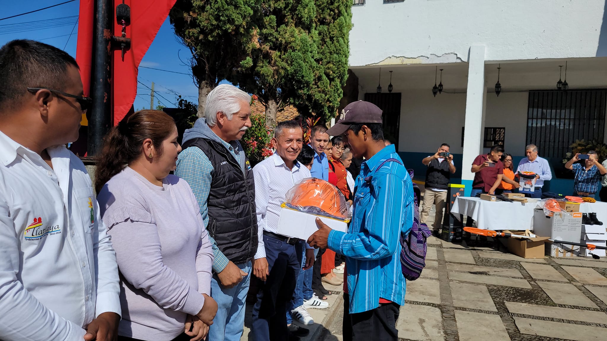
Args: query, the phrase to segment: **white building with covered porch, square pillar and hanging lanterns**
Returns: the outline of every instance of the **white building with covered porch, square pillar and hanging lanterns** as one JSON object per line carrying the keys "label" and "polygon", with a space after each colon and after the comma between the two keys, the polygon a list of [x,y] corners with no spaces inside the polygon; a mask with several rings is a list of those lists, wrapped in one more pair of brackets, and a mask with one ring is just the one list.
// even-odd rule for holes
{"label": "white building with covered porch, square pillar and hanging lanterns", "polygon": [[607,137],[605,0],[353,2],[345,96],[384,110],[387,138],[416,179],[421,159],[448,143],[453,181],[469,192],[476,155],[500,143],[518,164],[534,143],[554,167],[548,190],[571,194],[569,145]]}

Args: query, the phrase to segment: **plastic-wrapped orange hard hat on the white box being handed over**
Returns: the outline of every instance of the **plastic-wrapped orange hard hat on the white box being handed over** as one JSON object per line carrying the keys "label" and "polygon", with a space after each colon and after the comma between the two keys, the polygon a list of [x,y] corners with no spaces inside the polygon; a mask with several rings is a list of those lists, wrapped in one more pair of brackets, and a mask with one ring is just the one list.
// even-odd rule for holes
{"label": "plastic-wrapped orange hard hat on the white box being handed over", "polygon": [[285,203],[299,211],[348,218],[348,202],[337,187],[318,178],[307,178],[291,187]]}

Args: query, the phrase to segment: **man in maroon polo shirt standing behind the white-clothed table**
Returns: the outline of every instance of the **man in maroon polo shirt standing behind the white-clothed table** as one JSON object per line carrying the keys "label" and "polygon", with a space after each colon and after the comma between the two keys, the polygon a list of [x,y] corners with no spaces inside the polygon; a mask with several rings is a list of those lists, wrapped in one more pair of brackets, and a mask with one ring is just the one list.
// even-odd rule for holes
{"label": "man in maroon polo shirt standing behind the white-clothed table", "polygon": [[501,178],[504,176],[504,164],[501,163],[501,155],[504,147],[496,144],[491,147],[489,154],[478,155],[472,163],[472,172],[475,173],[472,183],[471,197],[480,193],[495,194],[495,189],[500,186]]}

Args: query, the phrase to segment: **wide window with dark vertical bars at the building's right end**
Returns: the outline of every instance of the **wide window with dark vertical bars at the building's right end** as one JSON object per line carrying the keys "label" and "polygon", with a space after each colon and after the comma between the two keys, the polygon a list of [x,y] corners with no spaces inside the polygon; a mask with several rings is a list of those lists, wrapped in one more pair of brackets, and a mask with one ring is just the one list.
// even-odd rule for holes
{"label": "wide window with dark vertical bars at the building's right end", "polygon": [[603,141],[607,89],[530,91],[527,144],[542,157],[565,157],[575,140]]}

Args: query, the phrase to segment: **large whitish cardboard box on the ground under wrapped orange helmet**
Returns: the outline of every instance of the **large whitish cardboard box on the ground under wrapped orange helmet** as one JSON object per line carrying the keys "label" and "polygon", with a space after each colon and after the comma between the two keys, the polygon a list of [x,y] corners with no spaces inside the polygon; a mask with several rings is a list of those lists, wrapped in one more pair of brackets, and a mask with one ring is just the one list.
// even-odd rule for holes
{"label": "large whitish cardboard box on the ground under wrapped orange helmet", "polygon": [[582,213],[554,213],[545,215],[542,209],[534,210],[533,232],[538,237],[579,243],[582,236]]}

